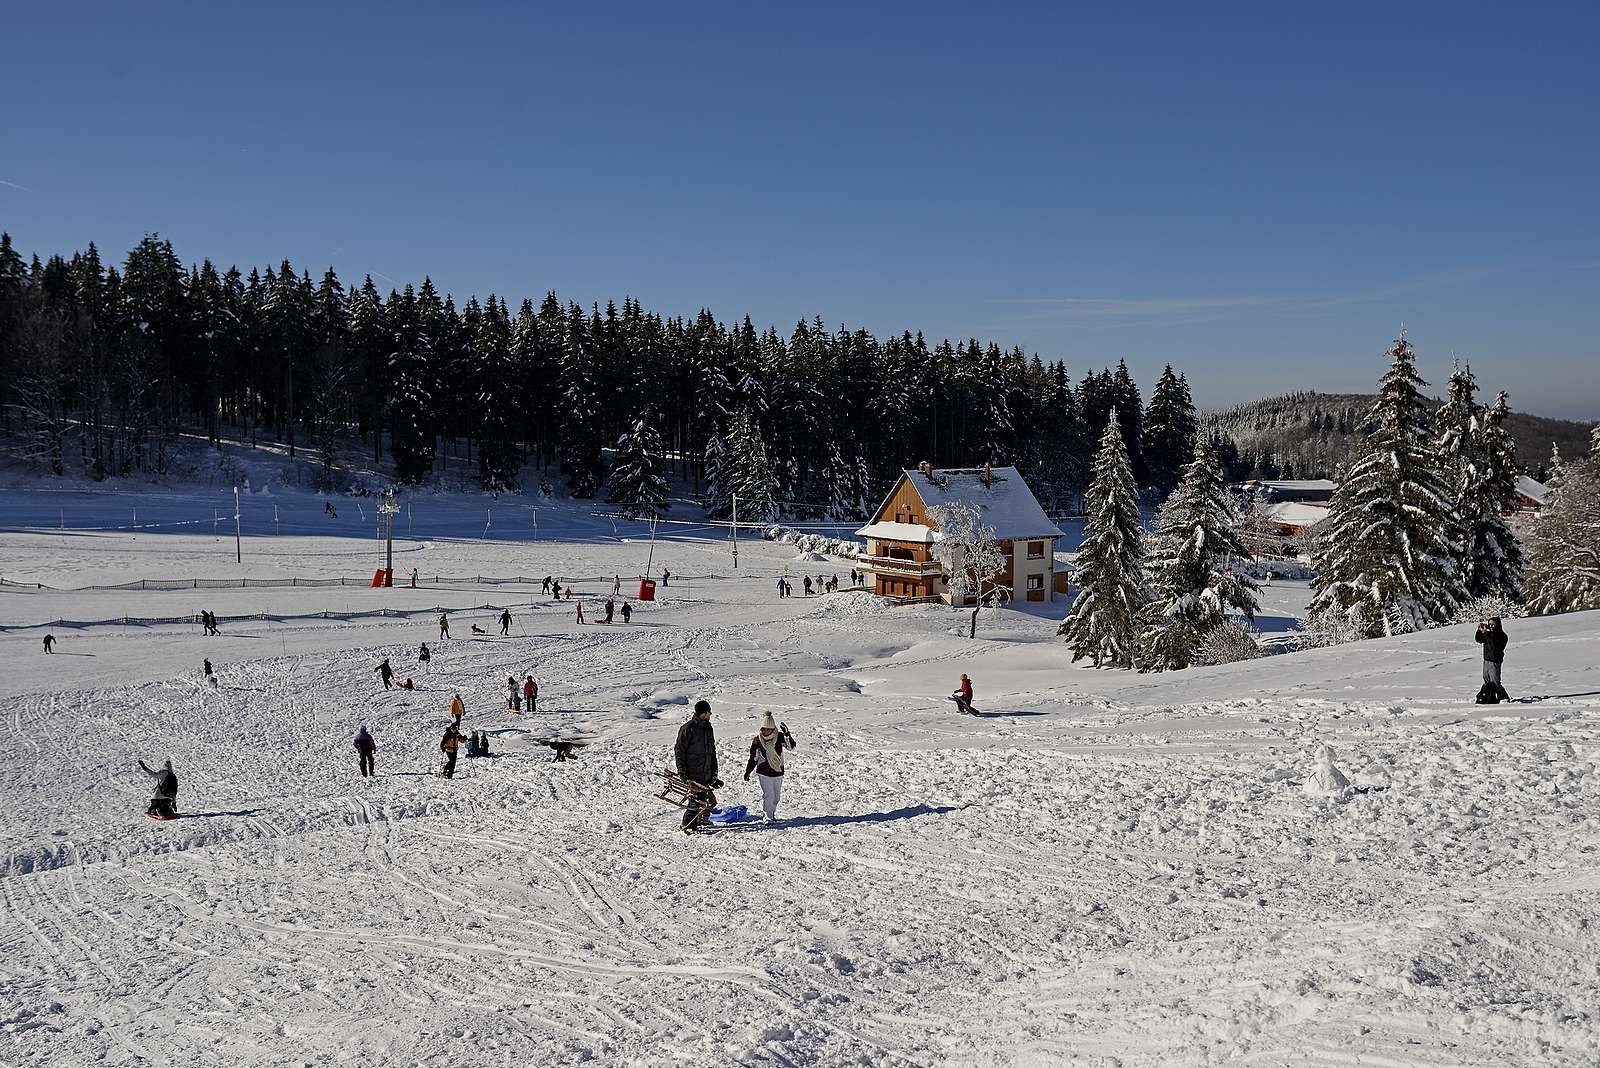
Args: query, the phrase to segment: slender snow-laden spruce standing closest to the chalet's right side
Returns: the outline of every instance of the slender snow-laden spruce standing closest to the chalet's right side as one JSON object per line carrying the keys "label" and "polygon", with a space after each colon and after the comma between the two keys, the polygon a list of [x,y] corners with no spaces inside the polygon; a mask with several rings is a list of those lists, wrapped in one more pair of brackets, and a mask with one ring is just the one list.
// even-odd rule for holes
{"label": "slender snow-laden spruce standing closest to the chalet's right side", "polygon": [[1088,523],[1074,576],[1078,596],[1056,633],[1072,646],[1074,660],[1088,657],[1098,668],[1133,667],[1144,606],[1144,540],[1133,467],[1115,409],[1106,419],[1085,505]]}

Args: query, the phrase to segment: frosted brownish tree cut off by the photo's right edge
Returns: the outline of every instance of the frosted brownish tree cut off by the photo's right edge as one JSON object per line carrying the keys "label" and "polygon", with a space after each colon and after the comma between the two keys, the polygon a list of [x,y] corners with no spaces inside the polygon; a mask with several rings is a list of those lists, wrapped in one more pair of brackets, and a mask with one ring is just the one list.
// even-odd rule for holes
{"label": "frosted brownish tree cut off by the photo's right edge", "polygon": [[1589,456],[1558,462],[1550,496],[1528,537],[1528,608],[1581,612],[1600,608],[1600,425]]}

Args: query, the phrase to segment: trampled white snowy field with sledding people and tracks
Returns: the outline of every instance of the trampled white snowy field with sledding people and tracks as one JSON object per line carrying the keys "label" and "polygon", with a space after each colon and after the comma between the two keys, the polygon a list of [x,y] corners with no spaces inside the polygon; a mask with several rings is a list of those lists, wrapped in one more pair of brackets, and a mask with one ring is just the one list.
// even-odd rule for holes
{"label": "trampled white snowy field with sledding people and tracks", "polygon": [[[0,532],[16,582],[379,561],[370,520],[272,536],[258,515],[240,566],[208,521],[26,532],[66,505],[22,497]],[[178,496],[171,521],[216,502]],[[646,558],[637,526],[571,505],[541,508],[539,542],[531,523],[474,540],[483,508],[398,539],[397,572],[603,598],[600,576]],[[427,577],[0,588],[0,1063],[1600,1062],[1595,614],[1509,624],[1507,687],[1542,700],[1475,707],[1464,627],[1096,673],[1053,636],[1064,604],[986,612],[968,641],[947,609],[778,601],[786,568],[848,572],[792,555],[741,542],[730,577],[725,542],[678,528],[654,568],[693,577],[627,627],[579,627],[538,585]],[[1277,619],[1302,603],[1269,598]],[[478,604],[514,606],[512,636],[469,638],[498,630],[458,612]],[[32,627],[202,608],[299,619],[50,627],[48,657]],[[339,619],[374,608],[421,614]],[[381,689],[386,656],[414,692]],[[504,681],[526,671],[542,711],[515,716]],[[981,718],[944,700],[960,671]],[[454,691],[496,755],[446,782]],[[699,697],[726,803],[758,804],[739,779],[757,715],[792,727],[778,827],[686,838],[654,798]],[[349,745],[363,723],[374,780]],[[554,763],[552,735],[589,745]],[[1350,780],[1331,796],[1306,790],[1318,742]],[[142,817],[139,756],[173,758],[184,819]]]}

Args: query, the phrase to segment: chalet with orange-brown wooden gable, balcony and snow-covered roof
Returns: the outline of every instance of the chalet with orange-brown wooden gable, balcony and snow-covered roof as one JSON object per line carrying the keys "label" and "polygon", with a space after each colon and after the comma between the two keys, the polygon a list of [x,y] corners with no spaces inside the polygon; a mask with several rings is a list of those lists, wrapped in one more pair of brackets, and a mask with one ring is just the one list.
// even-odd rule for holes
{"label": "chalet with orange-brown wooden gable, balcony and snow-covered roof", "polygon": [[[1010,558],[1011,598],[1050,601],[1066,593],[1067,572],[1056,571],[1056,539],[1066,537],[1034,497],[1014,467],[957,467],[901,472],[872,521],[856,531],[867,539],[861,561],[878,596],[899,600],[950,600],[949,580],[933,558],[939,523],[930,512],[949,504],[978,508]],[[971,598],[968,598],[971,603]]]}

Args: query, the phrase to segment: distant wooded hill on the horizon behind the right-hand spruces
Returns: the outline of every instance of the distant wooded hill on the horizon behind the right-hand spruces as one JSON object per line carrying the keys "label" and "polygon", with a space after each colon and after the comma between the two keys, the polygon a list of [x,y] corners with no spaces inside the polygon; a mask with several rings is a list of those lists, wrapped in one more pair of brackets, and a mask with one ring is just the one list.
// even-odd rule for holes
{"label": "distant wooded hill on the horizon behind the right-hand spruces", "polygon": [[[1229,467],[1235,473],[1331,478],[1360,443],[1362,420],[1373,400],[1373,393],[1286,393],[1203,412],[1200,425],[1232,440],[1238,460]],[[1493,393],[1478,400],[1493,400]],[[1549,473],[1552,444],[1560,446],[1565,457],[1589,451],[1589,424],[1584,422],[1512,411],[1506,427],[1517,441],[1517,464],[1534,478]]]}

